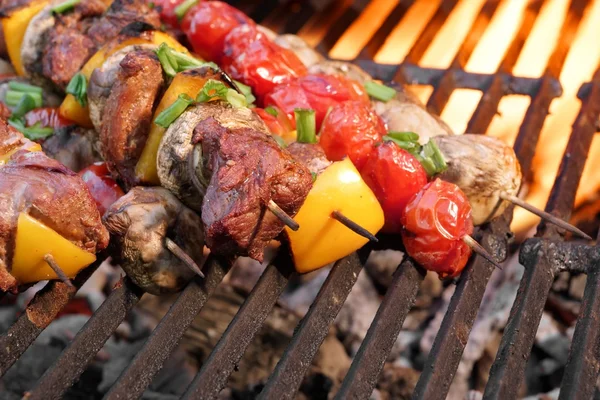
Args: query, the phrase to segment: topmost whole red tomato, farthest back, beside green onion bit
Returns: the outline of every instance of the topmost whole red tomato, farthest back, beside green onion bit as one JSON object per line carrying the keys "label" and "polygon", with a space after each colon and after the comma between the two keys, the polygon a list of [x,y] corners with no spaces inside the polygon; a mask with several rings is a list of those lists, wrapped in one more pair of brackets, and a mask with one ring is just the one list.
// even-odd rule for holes
{"label": "topmost whole red tomato, farthest back, beside green onion bit", "polygon": [[[173,1],[173,0],[170,0]],[[240,25],[252,25],[246,14],[221,1],[201,2],[190,8],[181,20],[194,52],[208,61],[221,63],[225,37]]]}

